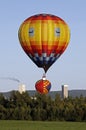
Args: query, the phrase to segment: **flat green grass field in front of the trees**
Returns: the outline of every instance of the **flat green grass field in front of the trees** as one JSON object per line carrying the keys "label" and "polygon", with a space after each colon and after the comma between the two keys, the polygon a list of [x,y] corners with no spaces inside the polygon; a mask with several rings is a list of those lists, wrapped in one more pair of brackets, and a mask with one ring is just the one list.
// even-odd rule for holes
{"label": "flat green grass field in front of the trees", "polygon": [[86,130],[86,123],[0,120],[0,130]]}

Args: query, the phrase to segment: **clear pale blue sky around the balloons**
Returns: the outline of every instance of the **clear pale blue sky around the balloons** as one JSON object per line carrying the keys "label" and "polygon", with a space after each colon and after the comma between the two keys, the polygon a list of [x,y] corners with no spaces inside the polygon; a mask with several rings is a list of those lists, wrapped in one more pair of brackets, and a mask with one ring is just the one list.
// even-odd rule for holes
{"label": "clear pale blue sky around the balloons", "polygon": [[[47,72],[51,90],[61,90],[62,84],[68,84],[70,90],[86,89],[86,0],[1,0],[0,77],[17,78],[26,89],[35,90],[35,82],[42,78],[44,71],[22,50],[18,29],[27,17],[39,13],[61,17],[71,30],[68,48]],[[0,91],[16,90],[18,85],[0,79]]]}

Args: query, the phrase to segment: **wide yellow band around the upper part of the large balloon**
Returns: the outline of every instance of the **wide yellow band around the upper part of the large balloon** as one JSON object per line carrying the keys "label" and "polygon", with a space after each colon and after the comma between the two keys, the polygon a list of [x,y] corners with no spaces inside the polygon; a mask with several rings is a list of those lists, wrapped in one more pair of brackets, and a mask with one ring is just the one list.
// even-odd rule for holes
{"label": "wide yellow band around the upper part of the large balloon", "polygon": [[[34,36],[29,36],[29,28],[34,28]],[[60,28],[60,36],[55,36],[55,28]],[[32,45],[42,50],[42,45],[48,45],[49,50],[53,51],[54,45],[58,48],[66,47],[70,40],[69,27],[62,21],[54,20],[28,20],[19,29],[19,40],[22,46]]]}

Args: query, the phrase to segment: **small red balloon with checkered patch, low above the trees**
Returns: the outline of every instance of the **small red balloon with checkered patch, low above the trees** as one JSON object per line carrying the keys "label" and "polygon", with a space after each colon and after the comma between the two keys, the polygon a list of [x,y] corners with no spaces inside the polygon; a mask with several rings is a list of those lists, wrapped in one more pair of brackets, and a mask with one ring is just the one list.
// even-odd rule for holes
{"label": "small red balloon with checkered patch, low above the trees", "polygon": [[51,89],[51,83],[48,80],[39,80],[35,84],[36,90],[41,94],[47,94]]}

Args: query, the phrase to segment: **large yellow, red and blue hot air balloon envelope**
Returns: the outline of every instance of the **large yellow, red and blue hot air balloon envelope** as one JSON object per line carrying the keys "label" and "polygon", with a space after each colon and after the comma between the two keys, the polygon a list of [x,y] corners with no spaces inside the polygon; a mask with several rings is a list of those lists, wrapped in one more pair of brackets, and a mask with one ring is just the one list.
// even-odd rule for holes
{"label": "large yellow, red and blue hot air balloon envelope", "polygon": [[38,14],[21,24],[18,36],[26,54],[46,72],[67,48],[70,30],[60,17]]}

